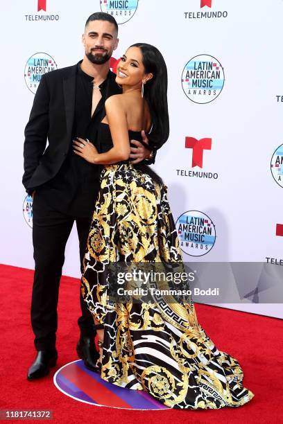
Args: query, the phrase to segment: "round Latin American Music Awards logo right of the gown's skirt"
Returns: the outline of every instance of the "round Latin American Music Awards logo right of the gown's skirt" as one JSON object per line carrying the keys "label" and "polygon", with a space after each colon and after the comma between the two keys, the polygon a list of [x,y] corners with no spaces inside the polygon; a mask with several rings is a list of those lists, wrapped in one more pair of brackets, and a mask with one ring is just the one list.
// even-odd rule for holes
{"label": "round Latin American Music Awards logo right of the gown's skirt", "polygon": [[203,256],[214,247],[216,233],[212,220],[200,211],[182,213],[176,221],[182,251],[189,256]]}

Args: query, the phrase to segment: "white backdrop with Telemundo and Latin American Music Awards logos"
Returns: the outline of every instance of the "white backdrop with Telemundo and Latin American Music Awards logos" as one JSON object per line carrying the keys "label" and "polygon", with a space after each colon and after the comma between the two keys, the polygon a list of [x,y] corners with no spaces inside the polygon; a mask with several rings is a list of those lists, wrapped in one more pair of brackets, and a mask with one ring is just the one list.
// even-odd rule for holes
{"label": "white backdrop with Telemundo and Latin American Music Awards logos", "polygon": [[[155,169],[184,260],[227,263],[234,297],[222,306],[283,317],[282,0],[1,1],[1,262],[33,268],[24,127],[42,75],[83,58],[85,20],[100,10],[119,24],[112,69],[135,42],[166,60],[171,132]],[[237,277],[235,262],[265,274]],[[64,273],[80,276],[76,227]]]}

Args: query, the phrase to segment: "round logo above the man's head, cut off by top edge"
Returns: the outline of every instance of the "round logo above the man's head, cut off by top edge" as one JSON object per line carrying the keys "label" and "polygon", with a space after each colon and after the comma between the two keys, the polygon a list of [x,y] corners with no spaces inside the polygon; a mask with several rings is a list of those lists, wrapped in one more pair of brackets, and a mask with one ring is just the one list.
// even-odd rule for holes
{"label": "round logo above the man's head, cut off by top edge", "polygon": [[139,0],[100,0],[101,12],[109,13],[117,24],[125,24],[137,10]]}

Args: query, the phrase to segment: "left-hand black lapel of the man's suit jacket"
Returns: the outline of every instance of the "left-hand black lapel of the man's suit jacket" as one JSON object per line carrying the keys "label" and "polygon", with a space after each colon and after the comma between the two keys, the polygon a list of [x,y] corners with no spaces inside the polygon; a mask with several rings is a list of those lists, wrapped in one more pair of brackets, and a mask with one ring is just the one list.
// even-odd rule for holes
{"label": "left-hand black lapel of the man's suit jacket", "polygon": [[73,130],[74,113],[75,113],[75,100],[76,100],[76,67],[71,68],[70,76],[63,80],[65,113],[67,122],[67,139],[71,139],[71,132]]}

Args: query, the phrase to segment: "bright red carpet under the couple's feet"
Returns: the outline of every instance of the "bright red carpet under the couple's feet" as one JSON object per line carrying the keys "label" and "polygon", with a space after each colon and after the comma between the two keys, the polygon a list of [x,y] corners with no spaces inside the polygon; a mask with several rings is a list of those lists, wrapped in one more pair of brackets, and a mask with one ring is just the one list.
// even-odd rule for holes
{"label": "bright red carpet under the couple's feet", "polygon": [[58,364],[50,376],[28,382],[26,372],[35,357],[29,315],[32,279],[31,270],[0,265],[0,409],[52,409],[52,423],[283,423],[283,320],[212,306],[196,305],[198,321],[219,349],[239,360],[244,385],[255,394],[247,405],[139,412],[94,407],[60,393],[53,385],[53,373],[77,359],[79,282],[69,277],[60,287]]}

